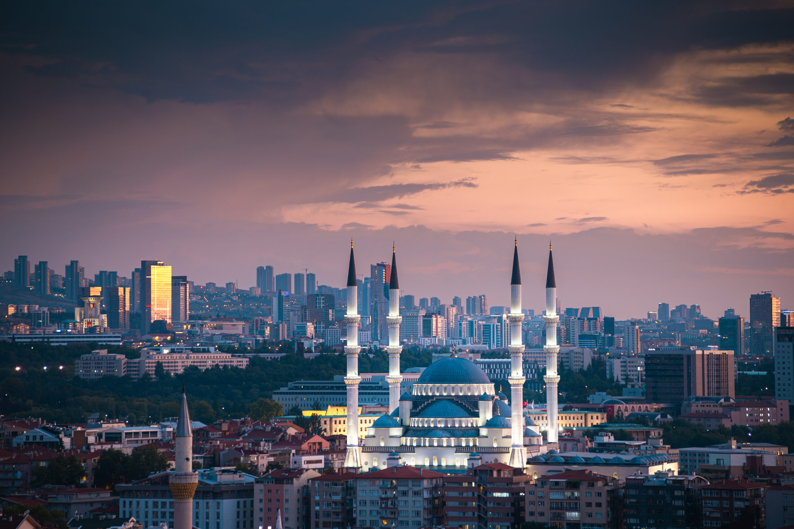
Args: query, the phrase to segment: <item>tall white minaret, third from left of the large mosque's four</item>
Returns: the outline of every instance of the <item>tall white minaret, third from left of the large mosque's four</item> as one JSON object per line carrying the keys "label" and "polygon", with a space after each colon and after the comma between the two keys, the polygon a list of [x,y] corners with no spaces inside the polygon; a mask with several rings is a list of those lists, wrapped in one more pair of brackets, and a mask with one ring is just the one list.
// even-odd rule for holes
{"label": "tall white minaret, third from left of the large mosque's four", "polygon": [[513,440],[510,450],[510,466],[522,469],[526,466],[526,448],[524,448],[524,344],[521,339],[521,322],[524,314],[521,312],[521,270],[518,268],[518,236],[515,238],[513,249],[513,276],[510,281],[510,402],[511,402],[511,437]]}

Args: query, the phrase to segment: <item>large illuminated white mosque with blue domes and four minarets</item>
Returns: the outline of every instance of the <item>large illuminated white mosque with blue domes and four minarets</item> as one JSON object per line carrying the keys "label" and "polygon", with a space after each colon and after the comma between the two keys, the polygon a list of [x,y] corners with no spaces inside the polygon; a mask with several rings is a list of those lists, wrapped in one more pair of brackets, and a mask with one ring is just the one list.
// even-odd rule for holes
{"label": "large illuminated white mosque with blue domes and four minarets", "polygon": [[[501,462],[524,468],[528,458],[551,454],[557,448],[557,322],[556,283],[551,246],[546,277],[545,353],[546,383],[549,403],[549,428],[546,443],[530,416],[523,412],[522,371],[524,346],[521,339],[521,272],[518,266],[518,241],[513,252],[510,323],[511,407],[504,393],[497,392],[483,370],[467,358],[453,353],[432,363],[413,385],[411,394],[399,395],[402,376],[399,372],[399,280],[397,259],[392,248],[389,284],[389,374],[390,413],[380,416],[368,429],[361,447],[356,435],[358,402],[356,268],[353,244],[350,248],[348,274],[348,344],[345,347],[348,372],[348,445],[345,466],[358,472],[380,470],[397,464],[417,466],[444,473],[465,472],[468,466],[483,462]],[[352,432],[352,433],[351,433]]]}

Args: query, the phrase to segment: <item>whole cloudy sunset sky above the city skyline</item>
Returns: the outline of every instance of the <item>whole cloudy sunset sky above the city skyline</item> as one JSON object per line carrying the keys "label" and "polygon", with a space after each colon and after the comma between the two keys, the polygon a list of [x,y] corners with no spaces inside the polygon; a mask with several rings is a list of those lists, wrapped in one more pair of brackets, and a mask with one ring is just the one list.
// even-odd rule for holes
{"label": "whole cloudy sunset sky above the city skyline", "polygon": [[0,7],[0,266],[794,309],[791,2]]}

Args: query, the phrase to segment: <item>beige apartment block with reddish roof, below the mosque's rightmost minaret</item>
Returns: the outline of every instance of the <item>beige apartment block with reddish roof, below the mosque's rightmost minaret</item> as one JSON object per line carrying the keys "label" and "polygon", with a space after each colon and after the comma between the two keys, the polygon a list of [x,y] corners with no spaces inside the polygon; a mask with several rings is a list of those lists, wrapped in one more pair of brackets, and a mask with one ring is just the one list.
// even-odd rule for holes
{"label": "beige apartment block with reddish roof, below the mosque's rightmost minaret", "polygon": [[579,470],[546,474],[526,486],[526,521],[553,527],[621,527],[622,483],[615,477]]}

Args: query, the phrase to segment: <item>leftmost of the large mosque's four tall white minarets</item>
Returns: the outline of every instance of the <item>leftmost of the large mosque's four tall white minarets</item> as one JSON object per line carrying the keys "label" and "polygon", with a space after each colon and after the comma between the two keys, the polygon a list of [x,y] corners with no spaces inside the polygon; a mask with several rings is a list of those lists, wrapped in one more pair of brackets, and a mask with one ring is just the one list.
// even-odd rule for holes
{"label": "leftmost of the large mosque's four tall white minarets", "polygon": [[345,324],[348,328],[348,341],[345,353],[348,358],[348,370],[345,385],[348,392],[348,442],[345,466],[352,469],[361,468],[361,450],[358,446],[358,325],[361,316],[358,315],[358,283],[356,282],[356,261],[353,259],[353,239],[350,240],[350,266],[348,267],[348,312],[345,314]]}

